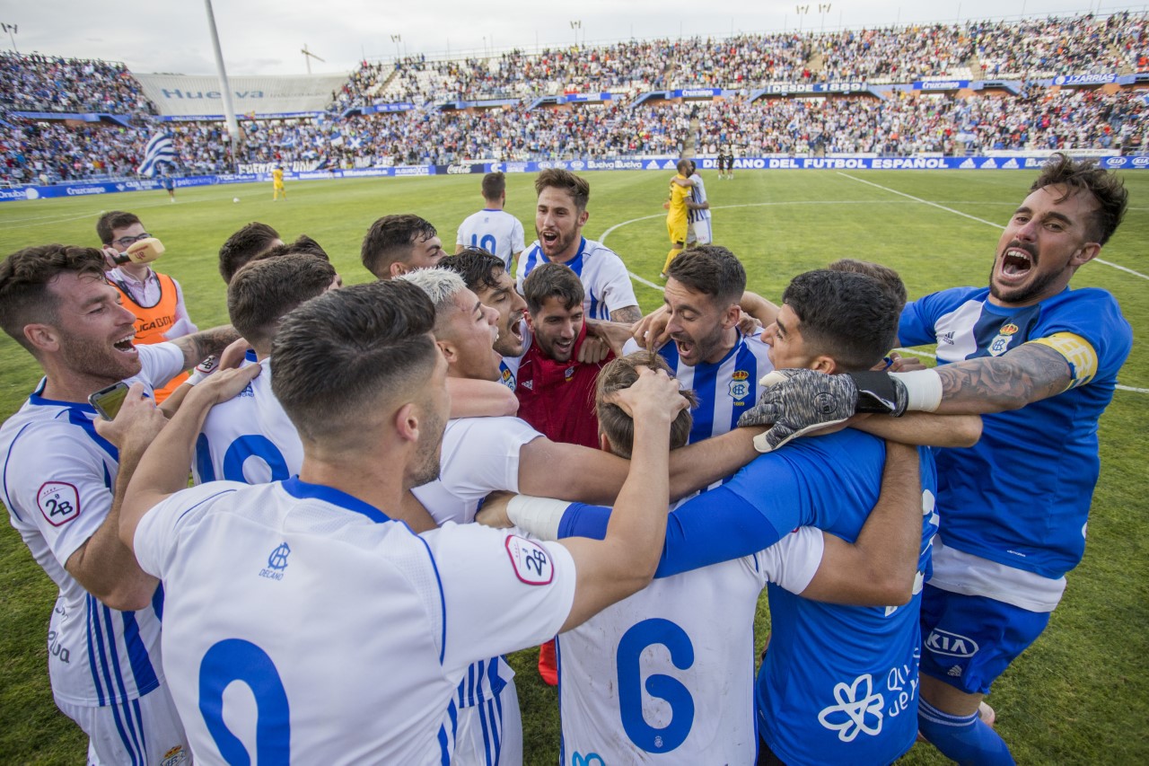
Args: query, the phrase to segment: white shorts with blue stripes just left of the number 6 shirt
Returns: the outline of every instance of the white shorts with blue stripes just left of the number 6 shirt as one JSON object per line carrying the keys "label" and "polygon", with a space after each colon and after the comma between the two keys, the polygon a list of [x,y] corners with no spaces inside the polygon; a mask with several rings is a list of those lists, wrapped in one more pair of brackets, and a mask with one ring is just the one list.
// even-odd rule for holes
{"label": "white shorts with blue stripes just left of the number 6 shirt", "polygon": [[485,699],[458,711],[452,766],[523,766],[523,717],[515,680],[496,699]]}

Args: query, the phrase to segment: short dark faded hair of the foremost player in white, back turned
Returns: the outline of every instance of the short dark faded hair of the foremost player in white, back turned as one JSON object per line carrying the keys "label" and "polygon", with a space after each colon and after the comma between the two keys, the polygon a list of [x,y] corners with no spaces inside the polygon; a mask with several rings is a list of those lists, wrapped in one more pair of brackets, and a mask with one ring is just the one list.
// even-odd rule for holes
{"label": "short dark faded hair of the foremost player in white, back turned", "polygon": [[280,320],[271,390],[304,441],[354,444],[380,401],[426,385],[432,327],[431,299],[409,282],[331,290]]}

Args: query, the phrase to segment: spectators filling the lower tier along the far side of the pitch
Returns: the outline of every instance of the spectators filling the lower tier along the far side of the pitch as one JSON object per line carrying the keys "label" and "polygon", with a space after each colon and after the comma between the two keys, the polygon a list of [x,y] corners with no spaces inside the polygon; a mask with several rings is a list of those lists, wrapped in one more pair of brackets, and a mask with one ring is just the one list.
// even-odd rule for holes
{"label": "spectators filling the lower tier along the far side of the pitch", "polygon": [[[987,150],[1109,150],[1146,145],[1149,106],[1135,92],[1038,91],[1034,98],[900,92],[831,99],[707,104],[615,102],[571,109],[410,112],[347,120],[241,121],[241,163],[352,168],[677,154],[977,154]],[[0,127],[0,181],[130,176],[148,129],[9,118]],[[179,173],[231,173],[222,122],[168,125]]]}

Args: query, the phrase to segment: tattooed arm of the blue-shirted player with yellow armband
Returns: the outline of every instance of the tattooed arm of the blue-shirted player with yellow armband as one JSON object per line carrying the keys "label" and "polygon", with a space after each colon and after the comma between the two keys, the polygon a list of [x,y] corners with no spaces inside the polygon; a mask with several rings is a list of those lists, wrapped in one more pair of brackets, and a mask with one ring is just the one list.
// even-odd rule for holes
{"label": "tattooed arm of the blue-shirted player with yellow armband", "polygon": [[981,357],[936,368],[942,415],[1018,409],[1070,386],[1065,357],[1049,346],[1025,343],[1001,357]]}

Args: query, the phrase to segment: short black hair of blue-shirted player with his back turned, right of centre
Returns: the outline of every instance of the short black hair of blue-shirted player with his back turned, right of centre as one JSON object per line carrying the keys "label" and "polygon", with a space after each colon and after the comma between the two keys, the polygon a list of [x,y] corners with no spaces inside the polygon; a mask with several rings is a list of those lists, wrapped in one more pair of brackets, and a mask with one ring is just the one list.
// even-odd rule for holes
{"label": "short black hair of blue-shirted player with his back turned, right of centre", "polygon": [[782,302],[797,315],[808,351],[828,355],[842,371],[870,369],[894,346],[897,304],[873,277],[807,271],[786,286]]}

